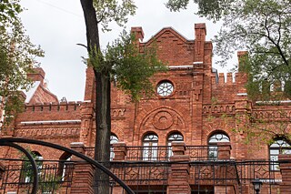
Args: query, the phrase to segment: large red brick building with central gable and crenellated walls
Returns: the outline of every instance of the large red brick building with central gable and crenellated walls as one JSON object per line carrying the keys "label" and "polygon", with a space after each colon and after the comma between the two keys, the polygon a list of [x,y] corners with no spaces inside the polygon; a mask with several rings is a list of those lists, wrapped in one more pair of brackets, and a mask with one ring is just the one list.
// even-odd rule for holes
{"label": "large red brick building with central gable and crenellated walls", "polygon": [[[153,77],[156,94],[137,103],[130,102],[128,96],[112,87],[111,169],[115,174],[136,193],[254,193],[251,183],[254,179],[262,180],[261,193],[291,193],[288,163],[291,158],[287,155],[291,154],[290,142],[274,127],[274,123],[284,123],[286,134],[289,131],[289,101],[280,105],[252,102],[244,87],[246,75],[218,74],[212,67],[213,45],[206,41],[205,24],[195,25],[194,40],[186,39],[170,27],[163,28],[147,42],[143,42],[141,27],[133,27],[132,32],[139,38],[140,52],[155,44],[159,58],[167,63],[169,70]],[[244,54],[238,52],[238,57]],[[38,73],[29,75],[36,84],[29,99],[26,97],[25,112],[1,130],[1,137],[40,139],[92,157],[93,70],[86,70],[82,102],[58,102],[45,87],[45,72],[37,70]],[[274,134],[269,138],[274,141],[259,146],[256,140],[246,144],[246,123],[262,120],[266,122],[261,122],[260,127],[271,128]],[[48,164],[71,159],[60,150],[35,145],[25,148],[44,161],[50,160]],[[13,148],[4,147],[1,151],[2,158],[19,158]],[[270,162],[279,160],[279,155],[286,163]],[[9,169],[19,166],[19,161],[2,164],[3,178],[8,179]],[[68,167],[64,164],[58,163],[57,167],[57,173],[63,177],[69,171],[62,169]],[[92,193],[92,168],[77,162],[74,167],[69,178],[59,179],[62,187],[55,189],[56,193]],[[86,180],[80,181],[81,178]],[[12,180],[5,183],[2,179],[0,189],[4,193],[17,193],[15,190],[28,184],[25,179],[17,179],[23,183],[17,187]],[[114,193],[122,193],[120,187],[112,187]]]}

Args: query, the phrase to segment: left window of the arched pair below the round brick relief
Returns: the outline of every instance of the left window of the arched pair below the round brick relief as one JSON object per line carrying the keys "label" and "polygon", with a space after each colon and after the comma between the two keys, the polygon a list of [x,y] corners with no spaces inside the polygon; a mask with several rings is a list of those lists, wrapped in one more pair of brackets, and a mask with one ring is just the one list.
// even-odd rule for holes
{"label": "left window of the arched pair below the round brick relief", "polygon": [[143,160],[157,159],[157,141],[156,134],[148,134],[143,139]]}

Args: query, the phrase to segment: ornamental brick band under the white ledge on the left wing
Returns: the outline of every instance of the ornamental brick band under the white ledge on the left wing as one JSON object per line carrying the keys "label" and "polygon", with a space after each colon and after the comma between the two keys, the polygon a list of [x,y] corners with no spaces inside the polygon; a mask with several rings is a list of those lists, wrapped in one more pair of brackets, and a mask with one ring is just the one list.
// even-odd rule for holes
{"label": "ornamental brick band under the white ledge on the left wing", "polygon": [[80,134],[80,128],[30,128],[16,129],[16,137],[37,137],[37,138],[77,138]]}

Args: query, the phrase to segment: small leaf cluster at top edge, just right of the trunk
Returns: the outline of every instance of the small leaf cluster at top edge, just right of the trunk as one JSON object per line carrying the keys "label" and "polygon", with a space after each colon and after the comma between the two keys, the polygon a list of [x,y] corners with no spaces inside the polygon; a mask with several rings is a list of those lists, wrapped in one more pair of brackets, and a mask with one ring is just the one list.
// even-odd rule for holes
{"label": "small leaf cluster at top edge, just right of the trunk", "polygon": [[94,0],[93,5],[97,16],[97,23],[100,23],[103,31],[109,31],[108,24],[112,21],[118,26],[127,23],[128,15],[135,15],[136,6],[133,0]]}

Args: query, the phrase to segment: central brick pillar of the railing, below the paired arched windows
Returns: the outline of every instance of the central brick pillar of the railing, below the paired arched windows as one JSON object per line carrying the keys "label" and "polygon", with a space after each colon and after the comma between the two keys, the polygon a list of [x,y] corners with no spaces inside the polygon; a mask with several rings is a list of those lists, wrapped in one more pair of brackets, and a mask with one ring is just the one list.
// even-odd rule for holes
{"label": "central brick pillar of the railing, below the paired arched windows", "polygon": [[[186,162],[190,160],[189,156],[174,155],[170,158],[173,162]],[[171,172],[168,179],[168,194],[191,194],[191,188],[189,185],[189,170],[190,165],[188,163],[174,163],[171,165]]]}

